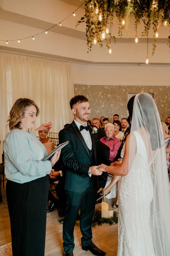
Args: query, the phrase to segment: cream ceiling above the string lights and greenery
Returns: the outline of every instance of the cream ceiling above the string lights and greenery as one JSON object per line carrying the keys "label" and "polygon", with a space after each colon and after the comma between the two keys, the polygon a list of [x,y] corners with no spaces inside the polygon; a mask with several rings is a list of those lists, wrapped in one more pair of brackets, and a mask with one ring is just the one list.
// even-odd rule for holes
{"label": "cream ceiling above the string lights and greenery", "polygon": [[[105,46],[102,48],[94,46],[92,51],[87,53],[85,23],[80,24],[77,28],[75,26],[75,23],[84,14],[83,7],[75,12],[76,17],[71,15],[63,21],[61,27],[54,26],[72,14],[81,4],[80,0],[0,0],[0,49],[94,64],[139,64],[145,61],[147,40],[146,38],[140,39],[138,46],[134,43],[133,17],[130,19],[128,35],[124,31],[122,38],[118,38],[118,22],[115,21],[113,34],[116,35],[116,44],[112,43],[112,56],[108,56]],[[54,28],[49,30],[48,39],[44,35],[43,38],[40,35],[35,37],[37,42],[34,46],[30,43],[30,39],[21,40],[20,45],[16,44],[17,38],[36,35],[51,26]],[[142,29],[143,25],[141,24],[138,29],[139,37]],[[170,50],[167,46],[168,32],[164,26],[160,27],[160,37],[157,40],[156,52],[153,56],[151,55],[153,35],[150,32],[150,63],[170,63]],[[8,45],[6,45],[6,40],[9,41]],[[50,41],[48,42],[48,40]],[[66,50],[63,49],[65,41],[67,43]],[[38,42],[39,45],[36,45]],[[49,44],[51,45],[50,49],[48,48]]]}

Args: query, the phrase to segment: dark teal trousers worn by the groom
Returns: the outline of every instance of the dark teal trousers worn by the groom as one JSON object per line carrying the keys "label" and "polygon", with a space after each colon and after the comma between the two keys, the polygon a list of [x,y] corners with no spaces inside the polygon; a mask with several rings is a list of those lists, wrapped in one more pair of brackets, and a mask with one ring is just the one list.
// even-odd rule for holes
{"label": "dark teal trousers worn by the groom", "polygon": [[97,192],[87,190],[85,192],[70,192],[66,190],[66,211],[63,223],[63,247],[65,252],[73,252],[74,249],[74,226],[77,213],[80,209],[80,230],[82,233],[82,245],[91,244],[94,209]]}

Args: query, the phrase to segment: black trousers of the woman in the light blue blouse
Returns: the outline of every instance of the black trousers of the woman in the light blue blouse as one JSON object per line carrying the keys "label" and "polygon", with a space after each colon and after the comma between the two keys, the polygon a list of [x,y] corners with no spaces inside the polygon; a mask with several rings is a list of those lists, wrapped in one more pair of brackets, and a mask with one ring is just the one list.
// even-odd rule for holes
{"label": "black trousers of the woman in the light blue blouse", "polygon": [[13,256],[44,256],[49,177],[17,183],[7,180]]}

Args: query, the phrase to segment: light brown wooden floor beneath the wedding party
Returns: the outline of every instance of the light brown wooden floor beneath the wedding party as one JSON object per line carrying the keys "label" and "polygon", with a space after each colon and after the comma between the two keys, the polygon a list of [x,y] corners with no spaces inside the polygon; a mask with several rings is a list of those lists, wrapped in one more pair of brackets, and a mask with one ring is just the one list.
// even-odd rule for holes
{"label": "light brown wooden floor beneath the wedding party", "polygon": [[[3,190],[3,202],[0,203],[0,246],[11,242],[10,221],[8,215],[8,207],[6,202],[6,191]],[[114,200],[108,199],[110,205]],[[99,209],[101,204],[96,204],[96,209]],[[59,223],[58,211],[47,213],[47,228],[46,228],[46,243],[45,256],[62,256],[62,224]],[[102,250],[106,252],[107,256],[116,256],[117,252],[117,232],[118,225],[103,224],[92,229],[93,242]],[[81,248],[81,233],[79,228],[79,221],[76,222],[74,229],[74,256],[90,256],[91,252],[83,251]]]}

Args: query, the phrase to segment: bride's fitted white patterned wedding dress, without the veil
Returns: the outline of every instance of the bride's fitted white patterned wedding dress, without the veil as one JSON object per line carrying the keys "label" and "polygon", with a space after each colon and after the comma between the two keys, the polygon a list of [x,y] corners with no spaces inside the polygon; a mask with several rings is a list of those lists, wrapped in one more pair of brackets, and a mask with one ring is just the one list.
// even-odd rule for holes
{"label": "bride's fitted white patterned wedding dress, without the veil", "polygon": [[153,182],[147,150],[138,131],[136,155],[119,188],[119,237],[117,256],[155,256],[150,228]]}

